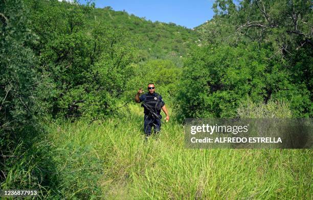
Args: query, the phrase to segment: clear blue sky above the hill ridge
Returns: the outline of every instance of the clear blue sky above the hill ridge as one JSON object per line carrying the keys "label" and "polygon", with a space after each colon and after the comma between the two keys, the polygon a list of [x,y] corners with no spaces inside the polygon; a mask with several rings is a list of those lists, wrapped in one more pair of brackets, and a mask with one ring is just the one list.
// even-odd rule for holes
{"label": "clear blue sky above the hill ridge", "polygon": [[[83,1],[81,1],[83,2]],[[173,22],[177,25],[193,28],[213,17],[213,0],[95,0],[97,8],[106,6],[114,10],[125,10],[152,22]]]}

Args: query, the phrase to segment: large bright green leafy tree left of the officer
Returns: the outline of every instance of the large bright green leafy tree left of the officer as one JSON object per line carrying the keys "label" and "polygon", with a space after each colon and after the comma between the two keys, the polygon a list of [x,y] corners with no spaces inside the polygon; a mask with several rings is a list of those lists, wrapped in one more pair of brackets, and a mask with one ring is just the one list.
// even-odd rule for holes
{"label": "large bright green leafy tree left of the officer", "polygon": [[129,34],[123,28],[87,21],[94,5],[27,2],[32,8],[31,28],[40,41],[34,46],[38,71],[50,88],[41,99],[48,102],[47,112],[90,119],[114,114],[133,74],[130,64],[138,59]]}

